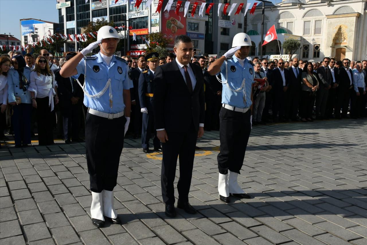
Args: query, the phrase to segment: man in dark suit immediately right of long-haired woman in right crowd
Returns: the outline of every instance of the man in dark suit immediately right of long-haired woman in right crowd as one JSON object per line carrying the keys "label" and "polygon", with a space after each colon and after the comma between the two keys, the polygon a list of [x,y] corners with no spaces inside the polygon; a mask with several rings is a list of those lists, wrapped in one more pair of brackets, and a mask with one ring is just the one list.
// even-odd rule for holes
{"label": "man in dark suit immediately right of long-haired woman in right crowd", "polygon": [[323,59],[323,65],[317,68],[317,78],[319,79],[319,90],[316,93],[316,119],[325,119],[326,103],[331,88],[333,77],[329,68],[330,58]]}

